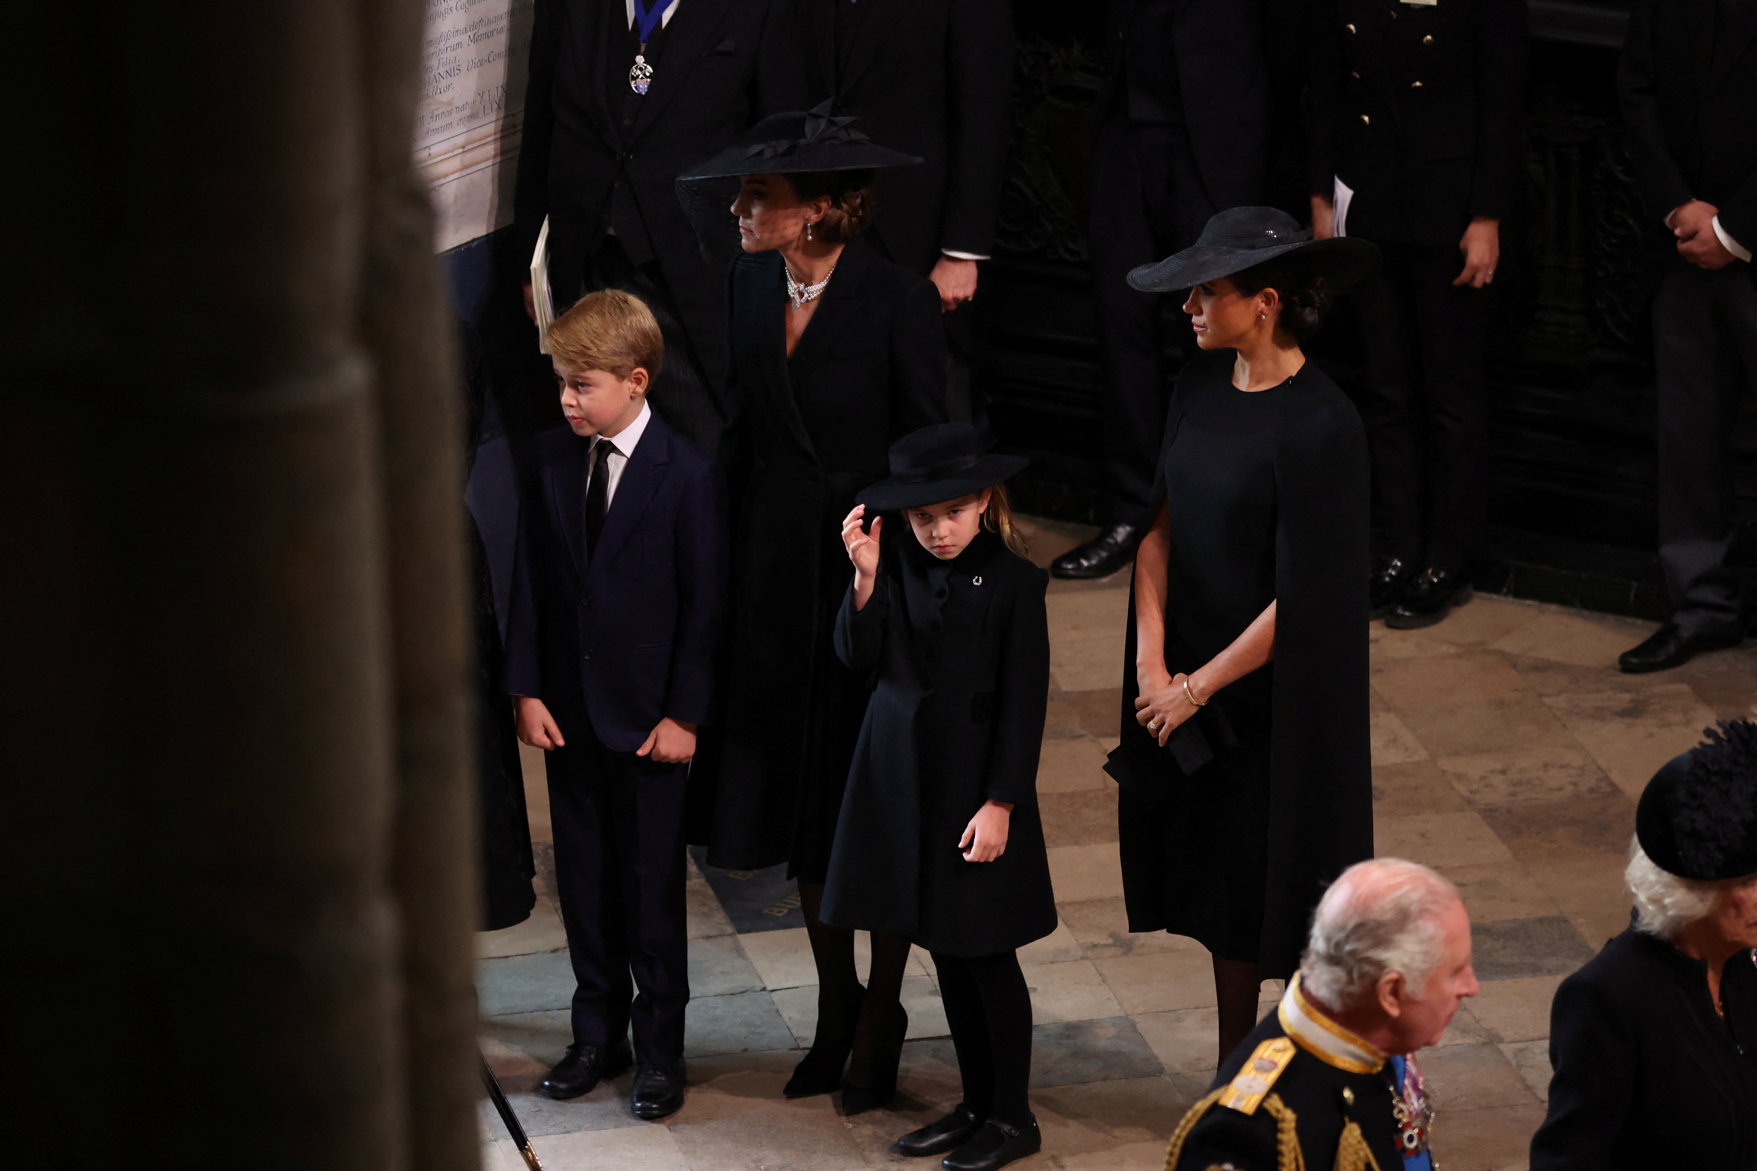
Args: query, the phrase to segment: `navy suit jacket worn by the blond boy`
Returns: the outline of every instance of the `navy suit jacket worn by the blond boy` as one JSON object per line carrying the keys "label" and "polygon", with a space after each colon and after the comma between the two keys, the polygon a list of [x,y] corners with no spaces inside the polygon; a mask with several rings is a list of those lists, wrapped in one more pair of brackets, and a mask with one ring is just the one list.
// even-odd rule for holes
{"label": "navy suit jacket worn by the blond boy", "polygon": [[587,558],[589,439],[532,444],[518,513],[506,690],[543,700],[564,739],[634,751],[662,716],[708,723],[726,614],[726,479],[652,414]]}

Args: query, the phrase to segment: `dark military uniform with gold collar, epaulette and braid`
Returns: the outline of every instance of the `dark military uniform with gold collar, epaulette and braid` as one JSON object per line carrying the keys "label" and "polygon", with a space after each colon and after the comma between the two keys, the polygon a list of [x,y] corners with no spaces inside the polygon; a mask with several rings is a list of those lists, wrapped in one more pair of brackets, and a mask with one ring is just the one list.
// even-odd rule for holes
{"label": "dark military uniform with gold collar, epaulette and braid", "polygon": [[1406,1171],[1427,1159],[1421,1073],[1318,1015],[1298,976],[1172,1134],[1165,1171]]}

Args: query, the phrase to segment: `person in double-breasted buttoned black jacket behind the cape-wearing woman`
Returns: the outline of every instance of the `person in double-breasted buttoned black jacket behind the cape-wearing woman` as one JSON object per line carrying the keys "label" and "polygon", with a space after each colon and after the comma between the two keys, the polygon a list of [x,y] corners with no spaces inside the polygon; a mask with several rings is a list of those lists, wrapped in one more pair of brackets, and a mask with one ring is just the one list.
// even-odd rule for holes
{"label": "person in double-breasted buttoned black jacket behind the cape-wearing woman", "polygon": [[1390,530],[1372,611],[1397,629],[1471,597],[1488,495],[1485,286],[1520,197],[1525,58],[1525,0],[1332,0],[1312,25],[1312,230],[1385,256],[1353,304]]}

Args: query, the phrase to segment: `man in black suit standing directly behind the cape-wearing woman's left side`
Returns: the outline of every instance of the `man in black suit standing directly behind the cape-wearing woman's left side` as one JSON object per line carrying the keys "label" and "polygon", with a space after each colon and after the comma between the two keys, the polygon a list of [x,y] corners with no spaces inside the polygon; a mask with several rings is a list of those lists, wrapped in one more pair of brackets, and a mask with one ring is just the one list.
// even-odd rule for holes
{"label": "man in black suit standing directly behind the cape-wearing woman's left side", "polygon": [[[1262,202],[1269,70],[1262,0],[1110,0],[1093,139],[1093,297],[1103,363],[1103,532],[1054,560],[1058,578],[1105,578],[1135,555],[1170,383],[1163,297],[1128,272],[1195,244],[1209,218]],[[1179,328],[1188,339],[1188,328]]]}

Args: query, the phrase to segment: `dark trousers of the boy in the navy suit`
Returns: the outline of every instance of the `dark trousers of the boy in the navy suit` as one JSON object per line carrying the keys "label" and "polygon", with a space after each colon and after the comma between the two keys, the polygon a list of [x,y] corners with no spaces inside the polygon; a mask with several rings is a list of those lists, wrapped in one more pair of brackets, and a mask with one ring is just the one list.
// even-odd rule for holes
{"label": "dark trousers of the boy in the navy suit", "polygon": [[566,736],[545,764],[555,885],[576,981],[573,1039],[617,1045],[633,1022],[636,1060],[678,1060],[689,1004],[689,765],[611,751],[585,720],[569,722]]}

